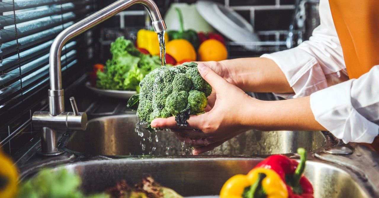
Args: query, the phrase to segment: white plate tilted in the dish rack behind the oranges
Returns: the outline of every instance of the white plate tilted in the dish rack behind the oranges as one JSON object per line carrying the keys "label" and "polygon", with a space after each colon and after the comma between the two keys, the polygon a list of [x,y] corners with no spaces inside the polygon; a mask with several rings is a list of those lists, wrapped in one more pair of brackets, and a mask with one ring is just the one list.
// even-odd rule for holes
{"label": "white plate tilted in the dish rack behind the oranges", "polygon": [[210,25],[230,40],[260,41],[252,25],[231,8],[207,0],[197,1],[196,8]]}

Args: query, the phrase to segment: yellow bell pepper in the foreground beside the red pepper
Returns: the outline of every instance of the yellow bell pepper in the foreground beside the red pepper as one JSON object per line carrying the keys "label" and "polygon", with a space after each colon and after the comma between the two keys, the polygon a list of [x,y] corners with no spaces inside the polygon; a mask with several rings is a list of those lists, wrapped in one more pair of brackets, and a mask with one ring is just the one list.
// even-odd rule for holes
{"label": "yellow bell pepper in the foreground beside the red pepper", "polygon": [[220,198],[288,198],[280,176],[266,168],[254,168],[247,175],[235,175],[222,186]]}

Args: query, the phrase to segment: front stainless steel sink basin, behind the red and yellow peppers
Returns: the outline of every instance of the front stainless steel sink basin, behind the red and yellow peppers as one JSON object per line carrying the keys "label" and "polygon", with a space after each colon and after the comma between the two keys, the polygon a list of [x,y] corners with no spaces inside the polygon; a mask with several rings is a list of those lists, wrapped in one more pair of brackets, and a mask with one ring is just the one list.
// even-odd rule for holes
{"label": "front stainless steel sink basin, behind the red and yellow peppers", "polygon": [[[135,184],[147,174],[163,186],[183,196],[218,195],[224,182],[236,174],[246,174],[263,158],[247,157],[158,157],[74,162],[66,168],[80,175],[87,193],[103,192],[117,181]],[[315,189],[315,198],[368,198],[370,182],[348,169],[322,161],[307,161],[305,176]]]}

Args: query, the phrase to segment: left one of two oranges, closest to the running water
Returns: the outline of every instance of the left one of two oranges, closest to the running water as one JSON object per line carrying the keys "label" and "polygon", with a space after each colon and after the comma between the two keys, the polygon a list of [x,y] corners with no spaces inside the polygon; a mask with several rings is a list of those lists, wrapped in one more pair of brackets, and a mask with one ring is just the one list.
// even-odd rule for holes
{"label": "left one of two oranges, closest to the running water", "polygon": [[173,39],[167,42],[166,53],[174,57],[176,61],[181,61],[183,59],[196,60],[195,48],[185,39]]}

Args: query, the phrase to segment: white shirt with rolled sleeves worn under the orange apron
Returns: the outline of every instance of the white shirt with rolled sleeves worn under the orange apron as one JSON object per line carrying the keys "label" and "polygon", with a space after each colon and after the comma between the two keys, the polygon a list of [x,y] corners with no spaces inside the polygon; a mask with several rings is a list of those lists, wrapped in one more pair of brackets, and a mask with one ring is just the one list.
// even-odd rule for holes
{"label": "white shirt with rolled sleeves worn under the orange apron", "polygon": [[264,54],[285,74],[292,94],[310,95],[315,119],[343,142],[373,142],[379,133],[379,65],[349,80],[329,1],[320,0],[320,25],[298,47]]}

